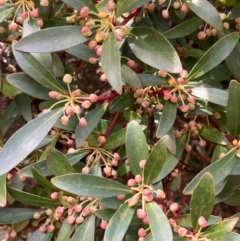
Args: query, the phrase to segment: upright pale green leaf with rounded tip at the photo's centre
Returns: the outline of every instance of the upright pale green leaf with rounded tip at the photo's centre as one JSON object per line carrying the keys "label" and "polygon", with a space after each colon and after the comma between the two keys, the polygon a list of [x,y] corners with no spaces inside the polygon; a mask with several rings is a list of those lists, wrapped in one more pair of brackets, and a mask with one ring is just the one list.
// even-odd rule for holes
{"label": "upright pale green leaf with rounded tip at the photo's centre", "polygon": [[139,163],[148,157],[148,144],[141,126],[136,121],[131,121],[127,126],[126,152],[131,172],[141,175]]}

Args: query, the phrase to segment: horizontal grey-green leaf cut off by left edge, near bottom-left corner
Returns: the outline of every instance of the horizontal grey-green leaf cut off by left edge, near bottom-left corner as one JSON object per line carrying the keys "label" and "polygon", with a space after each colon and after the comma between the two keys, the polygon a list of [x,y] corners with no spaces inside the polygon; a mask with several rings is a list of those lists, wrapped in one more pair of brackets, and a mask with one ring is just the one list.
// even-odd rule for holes
{"label": "horizontal grey-green leaf cut off by left edge, near bottom-left corner", "polygon": [[1,208],[0,209],[0,223],[12,224],[19,223],[33,218],[35,212],[41,211],[40,209],[33,208]]}

